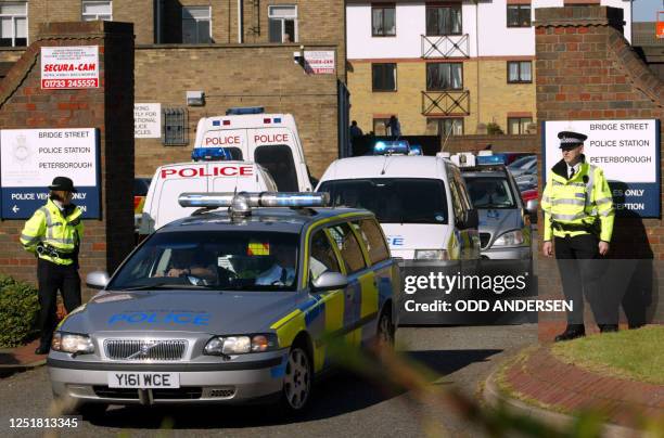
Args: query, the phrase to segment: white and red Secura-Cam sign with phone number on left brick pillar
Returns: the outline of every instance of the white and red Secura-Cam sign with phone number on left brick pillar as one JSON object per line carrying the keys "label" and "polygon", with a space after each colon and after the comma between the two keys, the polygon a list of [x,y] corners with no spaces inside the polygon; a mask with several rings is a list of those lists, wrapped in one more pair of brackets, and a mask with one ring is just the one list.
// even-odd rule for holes
{"label": "white and red Secura-Cam sign with phone number on left brick pillar", "polygon": [[42,47],[41,88],[99,88],[99,46]]}

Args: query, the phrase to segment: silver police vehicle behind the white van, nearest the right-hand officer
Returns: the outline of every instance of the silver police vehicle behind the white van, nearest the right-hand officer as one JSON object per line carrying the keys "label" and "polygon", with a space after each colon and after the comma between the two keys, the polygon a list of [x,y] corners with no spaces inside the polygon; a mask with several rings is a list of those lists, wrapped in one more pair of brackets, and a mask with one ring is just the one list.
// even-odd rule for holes
{"label": "silver police vehicle behind the white van, nearest the right-hand officer", "polygon": [[514,178],[498,157],[456,157],[463,162],[463,179],[480,216],[482,257],[525,260],[533,258],[529,211],[524,205]]}

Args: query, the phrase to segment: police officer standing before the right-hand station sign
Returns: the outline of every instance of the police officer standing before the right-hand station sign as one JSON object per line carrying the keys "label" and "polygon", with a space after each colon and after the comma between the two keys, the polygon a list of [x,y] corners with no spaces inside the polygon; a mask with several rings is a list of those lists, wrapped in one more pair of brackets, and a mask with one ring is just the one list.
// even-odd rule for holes
{"label": "police officer standing before the right-hand station sign", "polygon": [[[602,170],[586,163],[583,133],[558,134],[562,159],[549,171],[541,197],[544,210],[544,254],[553,254],[565,299],[572,301],[567,326],[556,342],[585,336],[584,293],[602,332],[616,331],[617,324],[605,324],[598,299],[600,268],[597,259],[609,253],[613,232],[613,201]],[[595,259],[595,260],[593,260]]]}

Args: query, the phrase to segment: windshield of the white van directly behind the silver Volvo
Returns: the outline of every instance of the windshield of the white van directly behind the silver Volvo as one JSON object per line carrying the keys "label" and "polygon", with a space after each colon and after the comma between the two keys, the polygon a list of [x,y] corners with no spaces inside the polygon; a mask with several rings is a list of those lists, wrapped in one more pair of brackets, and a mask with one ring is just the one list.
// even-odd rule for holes
{"label": "windshield of the white van directly behind the silver Volvo", "polygon": [[443,181],[425,178],[373,178],[325,181],[333,205],[366,208],[381,223],[447,223]]}

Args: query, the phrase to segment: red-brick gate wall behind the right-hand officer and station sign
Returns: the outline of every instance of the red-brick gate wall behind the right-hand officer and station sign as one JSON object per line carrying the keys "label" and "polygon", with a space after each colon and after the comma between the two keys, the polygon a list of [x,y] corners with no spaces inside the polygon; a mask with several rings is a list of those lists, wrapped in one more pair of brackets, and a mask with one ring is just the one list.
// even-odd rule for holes
{"label": "red-brick gate wall behind the right-hand officer and station sign", "polygon": [[[537,119],[662,119],[664,85],[623,38],[622,22],[622,10],[605,7],[536,10]],[[535,152],[539,151],[538,144]],[[657,260],[664,260],[662,219],[616,217],[611,257],[640,258],[647,265],[644,272],[650,273],[646,283],[652,287],[650,311],[661,321],[664,284]],[[556,263],[540,257],[538,265],[540,297],[560,298]],[[627,293],[640,289],[629,287]],[[659,313],[652,307],[659,307]],[[562,315],[540,313],[540,338],[550,338],[564,326],[563,321]]]}

